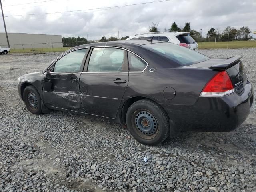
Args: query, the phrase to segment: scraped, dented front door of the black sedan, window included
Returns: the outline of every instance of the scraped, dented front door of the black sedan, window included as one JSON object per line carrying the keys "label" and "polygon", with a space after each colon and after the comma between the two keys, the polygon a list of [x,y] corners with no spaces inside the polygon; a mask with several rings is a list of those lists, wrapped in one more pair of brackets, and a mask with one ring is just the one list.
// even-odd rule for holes
{"label": "scraped, dented front door of the black sedan, window included", "polygon": [[88,48],[69,52],[49,69],[43,80],[46,106],[83,112],[79,78],[87,51]]}

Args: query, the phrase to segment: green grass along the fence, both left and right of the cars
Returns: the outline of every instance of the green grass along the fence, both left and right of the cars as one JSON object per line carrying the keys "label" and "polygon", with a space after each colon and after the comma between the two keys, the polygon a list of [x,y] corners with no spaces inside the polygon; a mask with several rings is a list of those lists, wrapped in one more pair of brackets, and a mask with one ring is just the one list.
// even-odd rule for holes
{"label": "green grass along the fence, both left and right of the cars", "polygon": [[[230,41],[230,42],[198,42],[199,49],[223,49],[223,48],[250,48],[256,47],[256,40],[248,40],[248,41]],[[227,47],[228,46],[228,47]],[[15,49],[12,48],[10,53],[44,53],[44,52],[64,52],[70,49],[70,47],[62,47],[62,48],[24,48],[23,49]]]}

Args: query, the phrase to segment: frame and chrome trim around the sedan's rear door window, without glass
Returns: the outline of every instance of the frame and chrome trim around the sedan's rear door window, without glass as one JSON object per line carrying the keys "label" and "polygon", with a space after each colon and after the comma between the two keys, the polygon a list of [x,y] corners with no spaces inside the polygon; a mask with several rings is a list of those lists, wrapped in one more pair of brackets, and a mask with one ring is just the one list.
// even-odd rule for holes
{"label": "frame and chrome trim around the sedan's rear door window, without glass", "polygon": [[[82,73],[129,73],[129,69],[128,71],[87,71],[88,70],[88,65],[89,65],[89,61],[90,61],[90,57],[92,55],[92,51],[94,48],[116,48],[116,49],[122,49],[125,51],[128,51],[126,48],[122,48],[122,47],[115,47],[115,46],[93,46],[90,48],[90,52],[88,52],[88,56],[86,58],[86,62],[84,65],[84,69],[82,71]],[[128,54],[125,54],[124,56],[128,56]],[[128,59],[127,59],[127,65],[128,65]],[[86,69],[86,71],[85,71]]]}

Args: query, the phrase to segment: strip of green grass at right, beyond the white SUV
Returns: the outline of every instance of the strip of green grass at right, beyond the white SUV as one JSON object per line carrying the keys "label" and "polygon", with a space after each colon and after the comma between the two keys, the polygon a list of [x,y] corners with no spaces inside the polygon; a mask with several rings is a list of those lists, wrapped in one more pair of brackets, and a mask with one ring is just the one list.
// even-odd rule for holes
{"label": "strip of green grass at right, beyond the white SUV", "polygon": [[[202,49],[214,49],[214,44],[215,44],[215,42],[202,42]],[[216,42],[216,49],[220,49],[220,48],[250,48],[250,47],[256,47],[256,40]],[[198,42],[198,48],[199,49],[201,48],[200,42]]]}

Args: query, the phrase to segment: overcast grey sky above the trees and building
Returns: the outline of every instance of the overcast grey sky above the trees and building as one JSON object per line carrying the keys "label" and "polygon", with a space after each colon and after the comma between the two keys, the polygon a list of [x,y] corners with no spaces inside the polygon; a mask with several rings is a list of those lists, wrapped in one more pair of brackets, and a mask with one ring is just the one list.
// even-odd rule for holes
{"label": "overcast grey sky above the trees and building", "polygon": [[[256,0],[172,0],[150,4],[64,12],[138,4],[156,0],[4,0],[6,27],[8,32],[56,34],[62,36],[84,36],[98,40],[102,36],[131,36],[148,31],[152,22],[159,23],[160,30],[169,29],[172,22],[184,26],[190,22],[192,29],[206,34],[210,28],[222,31],[230,25],[234,28],[249,26],[256,31]],[[25,4],[29,3],[29,4]],[[22,5],[17,5],[22,4]],[[13,6],[16,5],[16,6]],[[64,12],[57,14],[11,16]],[[84,13],[87,12],[87,13]],[[0,32],[4,32],[0,16]]]}

